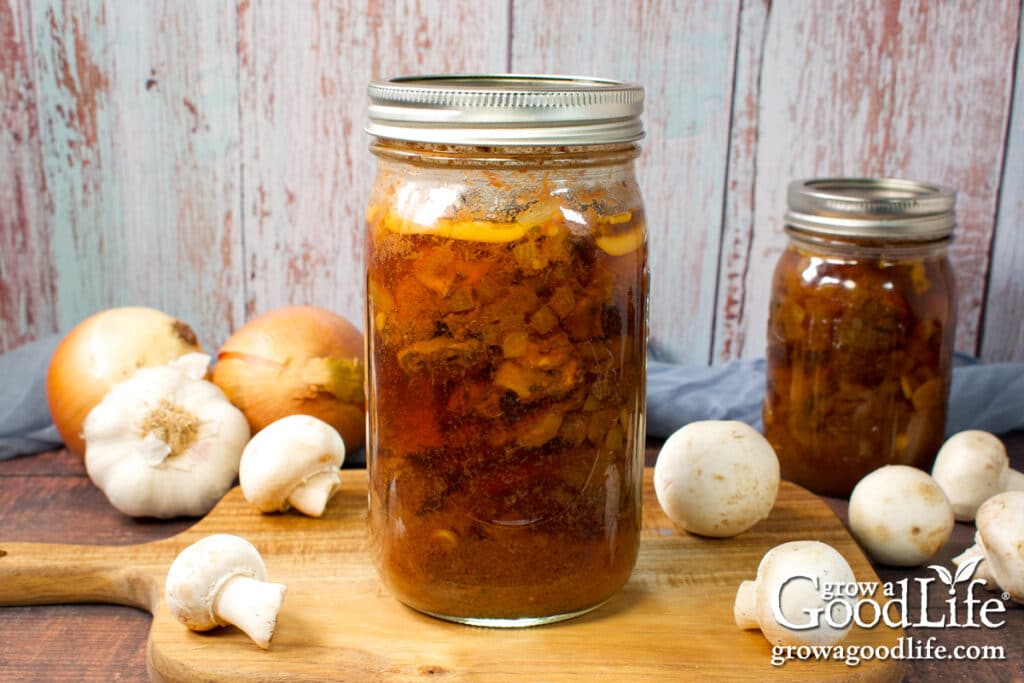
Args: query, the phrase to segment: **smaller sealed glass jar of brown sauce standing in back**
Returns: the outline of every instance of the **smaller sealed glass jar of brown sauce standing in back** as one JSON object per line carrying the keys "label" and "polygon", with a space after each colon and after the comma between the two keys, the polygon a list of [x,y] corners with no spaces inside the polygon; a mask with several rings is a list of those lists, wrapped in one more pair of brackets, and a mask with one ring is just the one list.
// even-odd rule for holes
{"label": "smaller sealed glass jar of brown sauce standing in back", "polygon": [[931,468],[952,366],[954,201],[893,178],[791,183],[764,402],[784,477],[845,497],[884,465]]}

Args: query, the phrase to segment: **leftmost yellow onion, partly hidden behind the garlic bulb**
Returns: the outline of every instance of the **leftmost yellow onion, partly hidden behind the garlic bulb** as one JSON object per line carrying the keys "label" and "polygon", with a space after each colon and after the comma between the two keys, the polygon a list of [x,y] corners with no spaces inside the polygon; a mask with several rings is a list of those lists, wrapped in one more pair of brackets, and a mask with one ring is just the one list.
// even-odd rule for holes
{"label": "leftmost yellow onion, partly hidden behind the garlic bulb", "polygon": [[82,423],[112,386],[139,368],[202,350],[190,327],[156,308],[110,308],[79,323],[46,372],[46,400],[65,445],[85,454]]}

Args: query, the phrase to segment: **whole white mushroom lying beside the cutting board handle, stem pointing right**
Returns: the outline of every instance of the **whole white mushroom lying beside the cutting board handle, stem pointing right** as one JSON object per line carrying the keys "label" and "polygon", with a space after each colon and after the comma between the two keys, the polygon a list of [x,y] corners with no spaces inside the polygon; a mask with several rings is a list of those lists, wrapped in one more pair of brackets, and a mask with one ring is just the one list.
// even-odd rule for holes
{"label": "whole white mushroom lying beside the cutting board handle, stem pointing right", "polygon": [[285,590],[282,584],[266,582],[266,565],[251,543],[214,533],[175,558],[165,594],[171,614],[193,631],[231,624],[266,649]]}

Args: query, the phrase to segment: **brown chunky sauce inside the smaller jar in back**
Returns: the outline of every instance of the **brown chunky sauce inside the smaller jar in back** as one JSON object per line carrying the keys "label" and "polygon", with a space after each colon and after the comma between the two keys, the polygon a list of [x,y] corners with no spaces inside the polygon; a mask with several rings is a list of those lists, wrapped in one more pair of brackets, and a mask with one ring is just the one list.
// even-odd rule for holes
{"label": "brown chunky sauce inside the smaller jar in back", "polygon": [[786,250],[773,284],[764,420],[787,478],[846,495],[882,465],[931,467],[949,393],[950,282],[940,256]]}

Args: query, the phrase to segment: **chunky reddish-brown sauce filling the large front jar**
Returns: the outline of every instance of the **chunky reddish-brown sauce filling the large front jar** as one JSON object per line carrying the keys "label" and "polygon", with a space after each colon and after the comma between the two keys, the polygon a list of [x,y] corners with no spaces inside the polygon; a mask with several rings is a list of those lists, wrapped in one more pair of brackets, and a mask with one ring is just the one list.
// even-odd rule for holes
{"label": "chunky reddish-brown sauce filling the large front jar", "polygon": [[524,204],[505,223],[369,213],[371,547],[434,614],[574,612],[636,560],[642,211]]}

